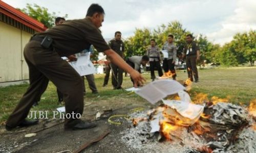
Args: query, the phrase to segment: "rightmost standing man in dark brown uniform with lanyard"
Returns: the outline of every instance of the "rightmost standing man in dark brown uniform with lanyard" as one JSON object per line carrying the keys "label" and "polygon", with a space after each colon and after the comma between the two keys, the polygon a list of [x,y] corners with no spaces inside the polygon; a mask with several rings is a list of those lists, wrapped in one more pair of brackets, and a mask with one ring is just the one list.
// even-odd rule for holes
{"label": "rightmost standing man in dark brown uniform with lanyard", "polygon": [[196,42],[193,41],[191,34],[186,36],[186,42],[187,44],[184,47],[182,57],[186,57],[187,75],[190,81],[194,81],[194,75],[195,82],[198,82],[197,61],[200,59],[200,49]]}

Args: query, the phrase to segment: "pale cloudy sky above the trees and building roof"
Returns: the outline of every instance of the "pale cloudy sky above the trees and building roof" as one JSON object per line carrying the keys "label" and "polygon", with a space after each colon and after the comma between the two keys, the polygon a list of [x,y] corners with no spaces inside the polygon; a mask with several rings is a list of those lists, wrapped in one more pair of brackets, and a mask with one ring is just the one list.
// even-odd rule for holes
{"label": "pale cloudy sky above the trees and building roof", "polygon": [[[0,0],[1,1],[1,0]],[[26,4],[46,7],[68,19],[83,18],[92,3],[105,10],[105,21],[101,28],[105,38],[112,38],[115,31],[122,36],[133,35],[135,28],[150,28],[178,20],[183,27],[203,34],[214,42],[224,44],[238,32],[256,30],[255,0],[2,0],[14,8],[25,8]]]}

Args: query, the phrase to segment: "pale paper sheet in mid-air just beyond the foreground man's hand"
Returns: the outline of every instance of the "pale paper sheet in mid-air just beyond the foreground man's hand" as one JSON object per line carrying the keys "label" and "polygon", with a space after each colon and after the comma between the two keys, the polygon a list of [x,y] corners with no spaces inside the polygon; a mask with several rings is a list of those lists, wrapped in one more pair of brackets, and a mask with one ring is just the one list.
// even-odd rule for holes
{"label": "pale paper sheet in mid-air just beyond the foreground man's hand", "polygon": [[135,91],[135,93],[155,104],[167,95],[175,94],[185,89],[179,82],[174,80],[157,80]]}

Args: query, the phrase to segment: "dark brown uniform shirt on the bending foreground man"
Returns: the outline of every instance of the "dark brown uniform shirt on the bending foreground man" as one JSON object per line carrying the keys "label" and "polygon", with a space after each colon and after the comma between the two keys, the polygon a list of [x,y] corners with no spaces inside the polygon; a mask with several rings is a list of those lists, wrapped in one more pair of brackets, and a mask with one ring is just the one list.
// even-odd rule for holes
{"label": "dark brown uniform shirt on the bending foreground man", "polygon": [[103,39],[100,31],[92,23],[91,19],[67,20],[60,25],[36,34],[53,38],[53,47],[59,56],[69,56],[89,49],[93,45],[98,52],[110,49]]}

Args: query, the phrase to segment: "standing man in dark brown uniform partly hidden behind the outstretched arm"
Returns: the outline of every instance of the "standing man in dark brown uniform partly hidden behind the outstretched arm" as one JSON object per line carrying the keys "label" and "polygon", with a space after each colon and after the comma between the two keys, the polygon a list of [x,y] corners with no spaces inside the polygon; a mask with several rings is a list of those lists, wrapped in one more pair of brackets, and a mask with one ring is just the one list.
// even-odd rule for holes
{"label": "standing man in dark brown uniform partly hidden behind the outstretched arm", "polygon": [[[113,49],[120,57],[124,59],[124,43],[121,40],[121,32],[115,32],[115,38],[109,43],[111,49]],[[111,63],[112,67],[112,85],[114,89],[121,89],[123,82],[123,69],[117,65]]]}

